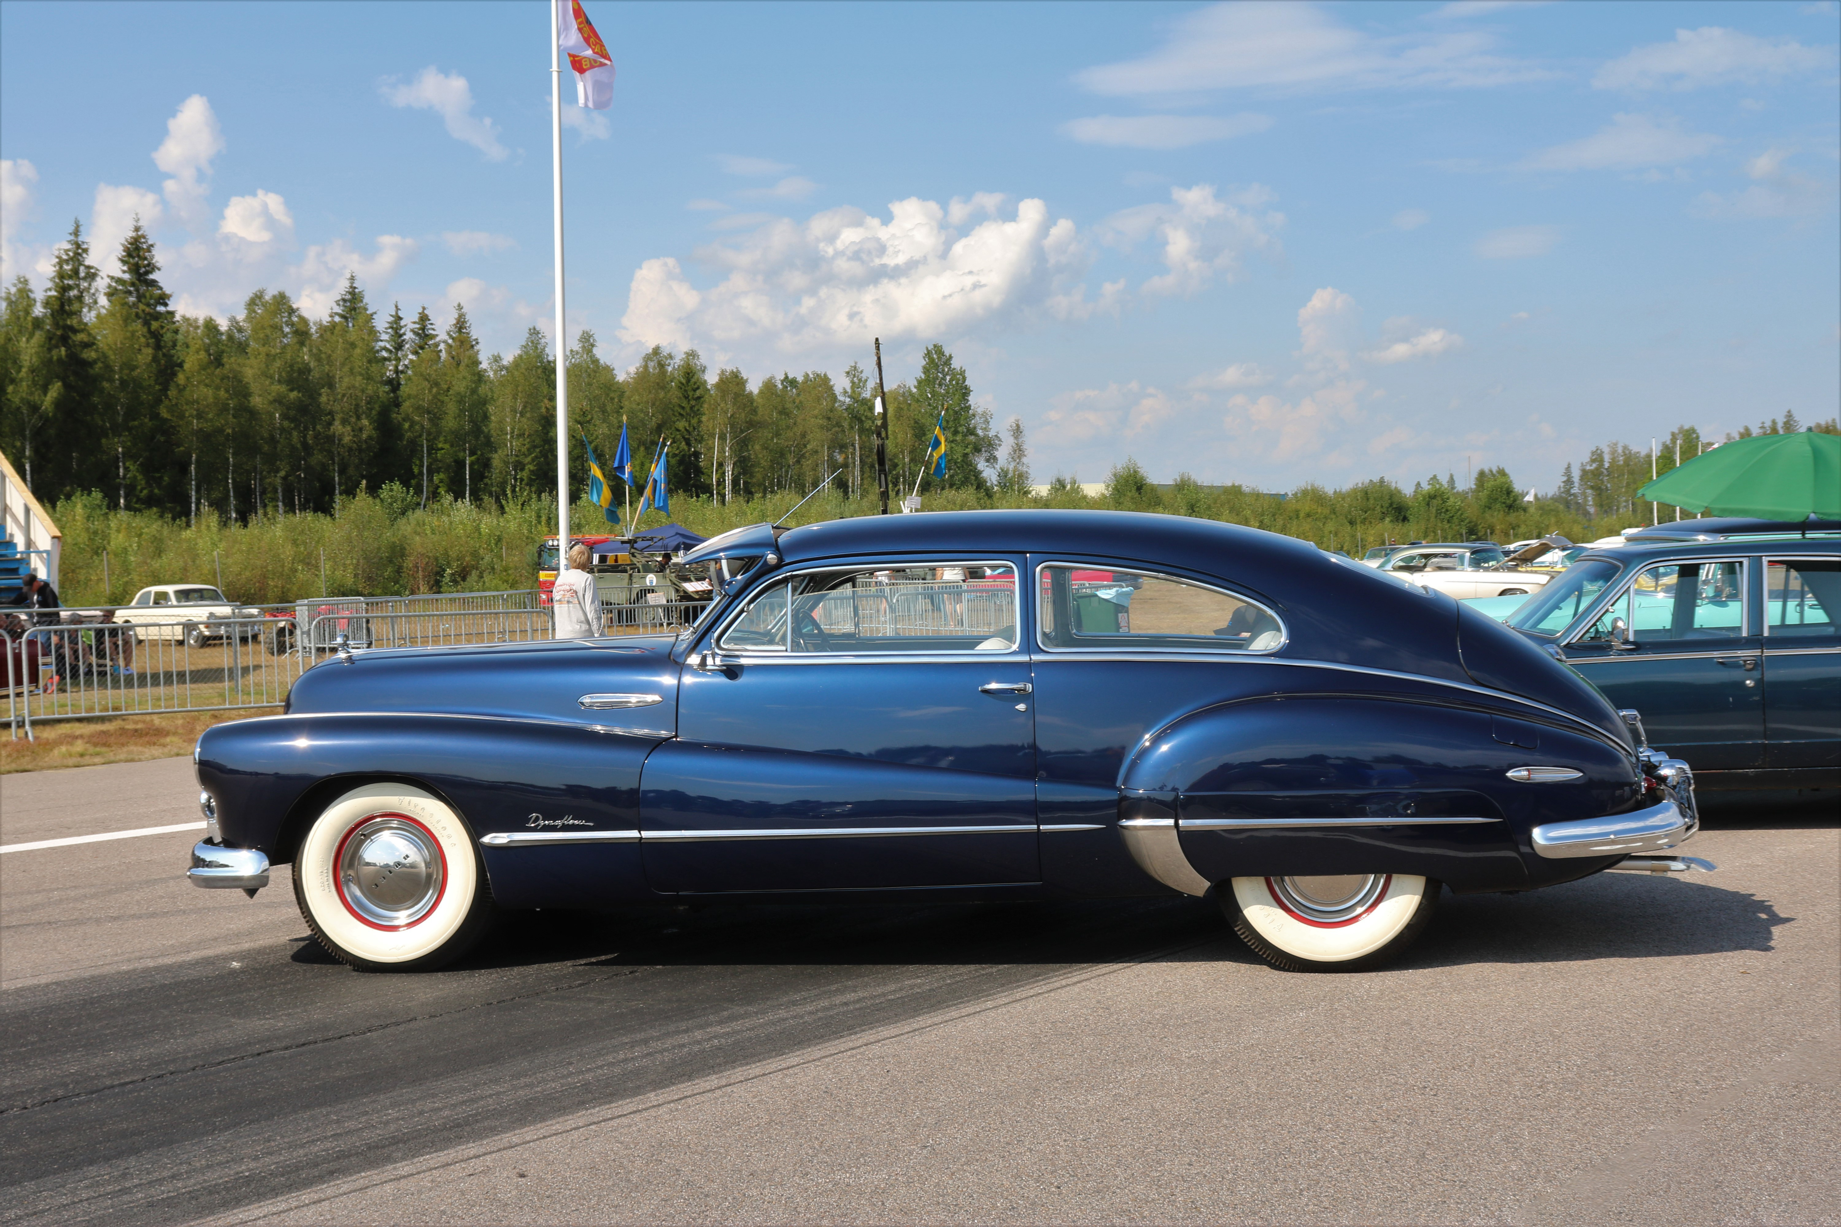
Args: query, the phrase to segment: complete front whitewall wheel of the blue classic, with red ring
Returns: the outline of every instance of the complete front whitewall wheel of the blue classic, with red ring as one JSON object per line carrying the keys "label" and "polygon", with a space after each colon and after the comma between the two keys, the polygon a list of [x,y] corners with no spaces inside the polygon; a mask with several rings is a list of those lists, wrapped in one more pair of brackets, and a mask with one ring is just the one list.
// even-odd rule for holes
{"label": "complete front whitewall wheel of the blue classic, with red ring", "polygon": [[403,784],[352,789],[315,819],[295,855],[295,901],[320,946],[361,971],[453,962],[493,911],[466,822]]}

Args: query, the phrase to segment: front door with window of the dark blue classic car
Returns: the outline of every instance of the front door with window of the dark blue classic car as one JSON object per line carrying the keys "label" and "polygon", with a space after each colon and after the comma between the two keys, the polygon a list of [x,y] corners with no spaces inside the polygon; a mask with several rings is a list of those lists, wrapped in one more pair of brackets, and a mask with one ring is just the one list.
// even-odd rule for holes
{"label": "front door with window of the dark blue classic car", "polygon": [[1016,574],[1002,557],[887,559],[753,592],[698,646],[677,740],[646,760],[652,887],[1038,881]]}

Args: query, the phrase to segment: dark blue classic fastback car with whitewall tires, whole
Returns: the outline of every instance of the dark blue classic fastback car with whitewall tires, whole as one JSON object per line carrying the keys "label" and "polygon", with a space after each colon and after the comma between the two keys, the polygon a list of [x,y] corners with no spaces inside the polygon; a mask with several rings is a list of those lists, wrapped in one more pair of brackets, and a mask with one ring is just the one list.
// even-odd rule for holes
{"label": "dark blue classic fastback car with whitewall tires, whole", "polygon": [[[989,511],[716,537],[676,638],[344,651],[197,749],[203,887],[295,865],[363,969],[499,909],[1213,898],[1279,968],[1397,955],[1696,826],[1686,765],[1502,624],[1291,537]],[[1650,855],[1644,855],[1650,854]]]}

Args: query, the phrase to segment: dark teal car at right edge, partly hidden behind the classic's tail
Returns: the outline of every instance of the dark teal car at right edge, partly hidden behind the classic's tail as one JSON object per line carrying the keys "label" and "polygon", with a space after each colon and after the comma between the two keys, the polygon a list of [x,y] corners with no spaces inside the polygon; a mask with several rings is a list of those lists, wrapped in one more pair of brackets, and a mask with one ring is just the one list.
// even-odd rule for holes
{"label": "dark teal car at right edge, partly hidden behind the classic's tail", "polygon": [[1707,519],[1587,550],[1508,625],[1640,708],[1701,787],[1841,786],[1841,524]]}

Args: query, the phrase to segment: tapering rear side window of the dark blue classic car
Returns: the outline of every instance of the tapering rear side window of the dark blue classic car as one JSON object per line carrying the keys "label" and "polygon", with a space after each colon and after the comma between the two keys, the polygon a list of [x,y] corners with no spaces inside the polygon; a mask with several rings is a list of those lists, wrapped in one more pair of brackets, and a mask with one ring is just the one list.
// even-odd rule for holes
{"label": "tapering rear side window of the dark blue classic car", "polygon": [[1038,568],[1044,648],[1278,651],[1285,629],[1265,607],[1147,570],[1081,563]]}

